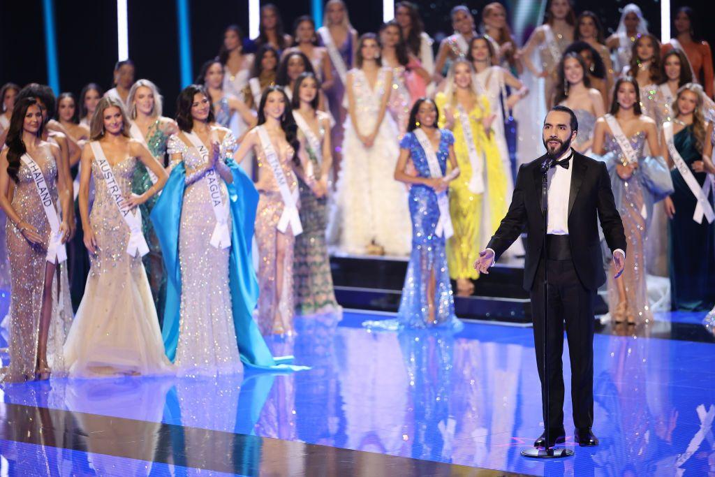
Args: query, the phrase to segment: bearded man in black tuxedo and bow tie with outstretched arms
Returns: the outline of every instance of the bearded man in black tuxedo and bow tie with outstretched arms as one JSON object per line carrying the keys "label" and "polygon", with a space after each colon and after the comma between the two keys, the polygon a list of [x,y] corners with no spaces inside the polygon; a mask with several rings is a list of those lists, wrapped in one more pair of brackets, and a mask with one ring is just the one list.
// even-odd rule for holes
{"label": "bearded man in black tuxedo and bow tie with outstretched arms", "polygon": [[[606,282],[598,238],[601,220],[603,235],[613,254],[616,277],[626,259],[626,235],[613,202],[606,164],[571,149],[578,121],[571,109],[556,106],[543,124],[546,154],[523,164],[516,178],[514,194],[506,217],[480,252],[474,267],[488,273],[495,260],[519,237],[526,225],[527,247],[524,283],[531,292],[536,363],[543,389],[544,267],[548,272],[549,345],[549,442],[544,434],[535,447],[553,447],[565,441],[563,430],[563,329],[566,323],[571,360],[571,398],[574,438],[581,446],[596,446],[593,425],[593,303],[596,290]],[[544,211],[541,207],[542,180],[548,177],[546,244],[543,242]],[[544,263],[544,247],[548,260]]]}

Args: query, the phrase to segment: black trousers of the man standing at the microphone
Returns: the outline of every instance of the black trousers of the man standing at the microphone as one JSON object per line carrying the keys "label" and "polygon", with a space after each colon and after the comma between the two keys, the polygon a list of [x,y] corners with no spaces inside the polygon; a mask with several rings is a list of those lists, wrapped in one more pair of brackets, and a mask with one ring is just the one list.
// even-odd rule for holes
{"label": "black trousers of the man standing at the microphone", "polygon": [[[568,253],[561,253],[561,258]],[[558,257],[559,254],[549,254]],[[549,343],[549,428],[563,427],[563,330],[566,325],[568,357],[571,361],[571,400],[576,428],[593,425],[593,303],[596,290],[587,290],[576,275],[571,258],[548,260],[548,343]],[[541,379],[541,403],[546,417],[543,387],[543,287],[544,262],[539,263],[531,290],[536,363]]]}

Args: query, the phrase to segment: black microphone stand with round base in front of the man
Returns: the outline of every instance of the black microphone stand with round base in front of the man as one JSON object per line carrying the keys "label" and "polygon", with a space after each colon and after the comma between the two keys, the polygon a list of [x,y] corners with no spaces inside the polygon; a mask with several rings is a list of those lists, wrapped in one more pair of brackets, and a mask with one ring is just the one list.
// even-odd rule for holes
{"label": "black microphone stand with round base in front of the man", "polygon": [[533,458],[561,458],[573,456],[573,449],[548,446],[551,438],[551,423],[549,422],[548,416],[550,404],[550,396],[548,393],[548,358],[551,353],[549,353],[550,350],[548,349],[548,247],[546,247],[546,232],[548,232],[548,169],[551,169],[553,162],[554,159],[546,157],[541,164],[541,212],[543,212],[543,245],[541,247],[541,256],[543,257],[543,343],[541,349],[543,353],[541,357],[543,361],[543,437],[546,441],[546,446],[543,449],[533,447],[521,451],[522,456]]}

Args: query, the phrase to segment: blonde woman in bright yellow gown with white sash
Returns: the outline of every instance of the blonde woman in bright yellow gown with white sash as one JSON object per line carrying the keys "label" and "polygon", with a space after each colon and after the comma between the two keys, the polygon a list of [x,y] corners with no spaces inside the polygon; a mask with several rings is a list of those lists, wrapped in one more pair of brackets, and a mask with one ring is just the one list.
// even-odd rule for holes
{"label": "blonde woman in bright yellow gown with white sash", "polygon": [[[499,149],[491,131],[494,117],[489,100],[480,94],[471,64],[456,60],[447,79],[445,92],[435,98],[440,111],[439,126],[451,129],[460,176],[450,183],[450,215],[454,235],[447,242],[450,277],[457,280],[457,290],[472,292],[479,273],[472,264],[488,238],[506,215],[508,170],[504,169]],[[468,140],[462,127],[463,111],[468,115],[475,157],[470,158]],[[469,134],[467,134],[469,135]],[[481,177],[474,177],[475,167]],[[479,171],[477,171],[479,174]],[[478,183],[483,187],[479,187]]]}

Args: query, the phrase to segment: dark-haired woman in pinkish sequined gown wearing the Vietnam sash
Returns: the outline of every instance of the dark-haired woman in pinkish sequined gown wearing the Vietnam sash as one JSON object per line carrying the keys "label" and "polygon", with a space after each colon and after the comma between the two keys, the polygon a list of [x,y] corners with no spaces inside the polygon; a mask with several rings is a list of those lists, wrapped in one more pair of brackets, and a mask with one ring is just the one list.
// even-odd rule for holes
{"label": "dark-haired woman in pinkish sequined gown wearing the Vietnam sash", "polygon": [[263,335],[294,333],[293,247],[295,236],[303,230],[293,172],[299,147],[296,129],[282,87],[267,87],[259,103],[258,126],[246,135],[235,154],[241,162],[253,149],[258,159],[255,187],[260,199],[255,236],[260,295],[256,320]]}

